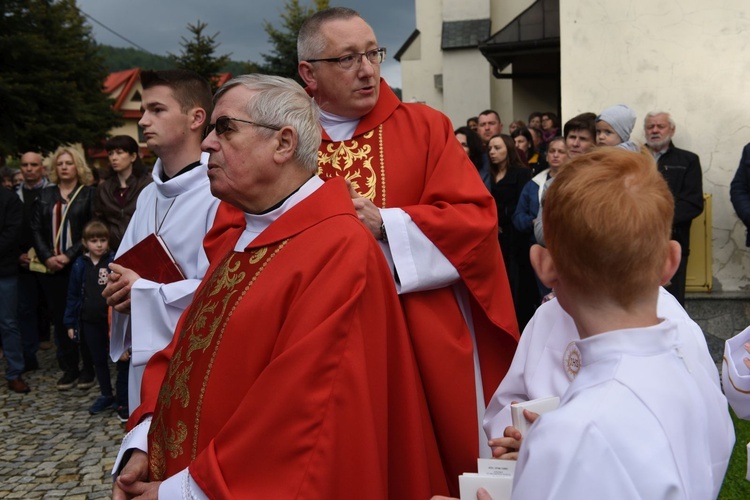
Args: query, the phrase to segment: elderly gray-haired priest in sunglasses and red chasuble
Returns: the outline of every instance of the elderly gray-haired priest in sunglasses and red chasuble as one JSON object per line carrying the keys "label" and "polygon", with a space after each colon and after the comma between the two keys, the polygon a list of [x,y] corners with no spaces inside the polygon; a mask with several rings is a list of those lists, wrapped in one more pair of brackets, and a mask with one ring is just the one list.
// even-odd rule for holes
{"label": "elderly gray-haired priest in sunglasses and red chasuble", "polygon": [[344,180],[315,175],[317,105],[262,75],[215,104],[203,148],[231,224],[147,365],[113,497],[447,493],[386,259]]}

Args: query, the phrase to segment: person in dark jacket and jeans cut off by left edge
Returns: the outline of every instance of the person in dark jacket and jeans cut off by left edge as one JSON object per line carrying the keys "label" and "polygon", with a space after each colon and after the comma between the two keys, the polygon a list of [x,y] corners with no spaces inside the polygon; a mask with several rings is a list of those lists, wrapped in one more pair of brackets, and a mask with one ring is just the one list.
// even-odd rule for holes
{"label": "person in dark jacket and jeans cut off by left edge", "polygon": [[8,369],[5,379],[13,392],[29,392],[21,378],[23,348],[18,330],[18,238],[21,233],[22,203],[15,193],[0,189],[0,337]]}

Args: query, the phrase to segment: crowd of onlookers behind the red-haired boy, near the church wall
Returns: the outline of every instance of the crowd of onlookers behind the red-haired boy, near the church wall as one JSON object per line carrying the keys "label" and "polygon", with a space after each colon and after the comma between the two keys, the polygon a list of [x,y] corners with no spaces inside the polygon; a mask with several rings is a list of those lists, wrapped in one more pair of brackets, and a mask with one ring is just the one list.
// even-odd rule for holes
{"label": "crowd of onlookers behind the red-haired boy, near the church wall", "polygon": [[700,160],[672,143],[675,124],[669,113],[646,115],[643,144],[631,139],[635,122],[635,112],[623,104],[598,114],[581,113],[562,129],[555,113],[533,112],[528,125],[514,120],[508,135],[503,134],[499,114],[485,110],[454,131],[495,198],[498,239],[521,330],[536,308],[552,296],[552,290],[535,277],[528,260],[529,248],[544,244],[541,214],[546,190],[562,165],[598,147],[644,152],[656,160],[675,199],[672,238],[682,251],[680,266],[667,290],[684,306],[690,225],[703,211]]}

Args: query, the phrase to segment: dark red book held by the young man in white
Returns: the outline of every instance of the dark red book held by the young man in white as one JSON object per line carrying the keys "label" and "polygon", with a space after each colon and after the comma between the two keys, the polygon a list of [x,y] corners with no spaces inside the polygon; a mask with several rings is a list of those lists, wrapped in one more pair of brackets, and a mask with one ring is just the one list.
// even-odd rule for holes
{"label": "dark red book held by the young man in white", "polygon": [[167,244],[154,233],[120,255],[114,263],[132,269],[141,278],[154,283],[167,284],[185,279]]}

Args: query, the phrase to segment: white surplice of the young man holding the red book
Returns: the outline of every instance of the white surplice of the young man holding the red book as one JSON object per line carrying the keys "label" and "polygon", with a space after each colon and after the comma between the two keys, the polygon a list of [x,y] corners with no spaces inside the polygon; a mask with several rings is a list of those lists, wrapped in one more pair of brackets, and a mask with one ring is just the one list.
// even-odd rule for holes
{"label": "white surplice of the young man holding the red book", "polygon": [[143,370],[151,356],[172,340],[177,321],[193,300],[193,293],[208,269],[203,238],[214,221],[219,200],[211,194],[208,153],[201,165],[163,182],[161,160],[154,165],[154,182],[138,196],[133,218],[117,256],[157,232],[179,264],[186,279],[169,284],[139,279],[131,290],[131,314],[112,313],[110,356],[113,361],[132,349],[128,383],[129,408],[140,403]]}

